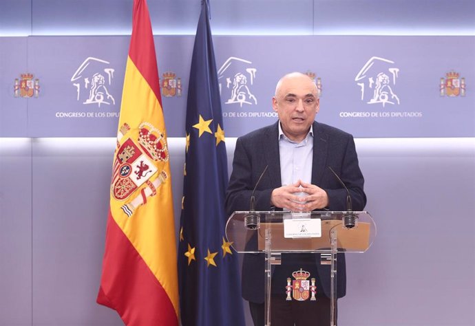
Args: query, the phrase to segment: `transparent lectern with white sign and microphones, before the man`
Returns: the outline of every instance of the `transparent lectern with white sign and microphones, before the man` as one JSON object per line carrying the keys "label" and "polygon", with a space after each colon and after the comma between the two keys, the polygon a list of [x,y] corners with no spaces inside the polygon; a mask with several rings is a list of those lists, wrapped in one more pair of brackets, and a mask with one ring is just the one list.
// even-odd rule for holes
{"label": "transparent lectern with white sign and microphones, before the man", "polygon": [[[226,224],[226,237],[238,253],[265,257],[264,322],[271,325],[272,266],[282,254],[321,254],[321,263],[330,265],[330,325],[336,325],[337,253],[366,252],[376,237],[376,224],[366,211],[236,211]],[[295,256],[298,257],[298,256]],[[288,279],[287,300],[291,300]],[[315,281],[306,281],[305,296],[315,300]],[[302,290],[302,289],[300,289]]]}

